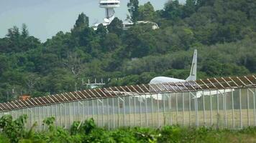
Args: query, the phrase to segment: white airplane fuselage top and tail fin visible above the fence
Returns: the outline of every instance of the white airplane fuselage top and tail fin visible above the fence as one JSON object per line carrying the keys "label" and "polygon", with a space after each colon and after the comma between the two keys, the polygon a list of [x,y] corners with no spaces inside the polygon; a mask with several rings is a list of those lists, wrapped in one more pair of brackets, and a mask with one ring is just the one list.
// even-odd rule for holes
{"label": "white airplane fuselage top and tail fin visible above the fence", "polygon": [[193,53],[193,61],[191,65],[191,74],[189,77],[184,79],[175,79],[171,77],[155,77],[154,79],[151,79],[150,84],[163,84],[163,83],[178,83],[178,82],[188,82],[188,81],[196,81],[196,66],[197,66],[197,50],[195,49]]}

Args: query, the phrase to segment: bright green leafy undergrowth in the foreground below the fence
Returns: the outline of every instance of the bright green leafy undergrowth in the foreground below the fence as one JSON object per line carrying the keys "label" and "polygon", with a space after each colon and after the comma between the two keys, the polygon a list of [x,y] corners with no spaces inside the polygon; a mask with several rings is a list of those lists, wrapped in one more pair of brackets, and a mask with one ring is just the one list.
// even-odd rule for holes
{"label": "bright green leafy undergrowth in the foreground below the fence", "polygon": [[54,117],[44,120],[45,131],[35,131],[35,123],[31,129],[24,124],[27,116],[12,119],[4,115],[0,119],[0,142],[3,143],[165,143],[165,142],[255,142],[256,128],[248,127],[241,130],[213,129],[211,127],[179,127],[166,126],[159,129],[145,127],[123,127],[106,130],[96,127],[93,119],[85,122],[74,122],[70,129],[54,126]]}

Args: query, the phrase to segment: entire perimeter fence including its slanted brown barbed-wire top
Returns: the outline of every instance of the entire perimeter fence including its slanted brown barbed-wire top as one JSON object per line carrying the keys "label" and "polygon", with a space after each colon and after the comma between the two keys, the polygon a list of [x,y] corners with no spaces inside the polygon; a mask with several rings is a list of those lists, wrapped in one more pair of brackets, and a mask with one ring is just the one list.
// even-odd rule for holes
{"label": "entire perimeter fence including its slanted brown barbed-wire top", "polygon": [[90,118],[107,129],[175,124],[242,129],[256,126],[255,96],[255,76],[142,84],[1,103],[0,116],[27,114],[27,127],[37,122],[38,130],[46,129],[42,121],[47,117],[67,129]]}

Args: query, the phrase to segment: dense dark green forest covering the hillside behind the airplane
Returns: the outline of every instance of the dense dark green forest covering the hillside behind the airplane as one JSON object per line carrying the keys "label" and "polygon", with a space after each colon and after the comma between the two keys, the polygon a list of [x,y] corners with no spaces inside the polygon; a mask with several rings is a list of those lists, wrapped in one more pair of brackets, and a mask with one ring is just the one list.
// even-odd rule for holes
{"label": "dense dark green forest covering the hillside behind the airplane", "polygon": [[[127,7],[135,23],[128,30],[115,18],[94,31],[83,13],[69,32],[45,42],[25,24],[10,28],[0,39],[0,101],[86,89],[82,79],[103,78],[106,86],[185,79],[193,49],[200,79],[256,73],[255,0],[170,0],[157,11],[150,2],[130,0]],[[160,29],[136,24],[141,20]]]}

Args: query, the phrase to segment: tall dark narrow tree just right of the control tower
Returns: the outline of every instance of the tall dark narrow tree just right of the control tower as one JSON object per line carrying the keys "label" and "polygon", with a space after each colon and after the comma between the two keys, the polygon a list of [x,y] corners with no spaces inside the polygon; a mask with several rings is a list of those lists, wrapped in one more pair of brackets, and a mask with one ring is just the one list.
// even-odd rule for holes
{"label": "tall dark narrow tree just right of the control tower", "polygon": [[139,1],[129,0],[127,7],[128,7],[129,14],[132,18],[132,21],[135,23],[138,20],[138,16],[139,16]]}

